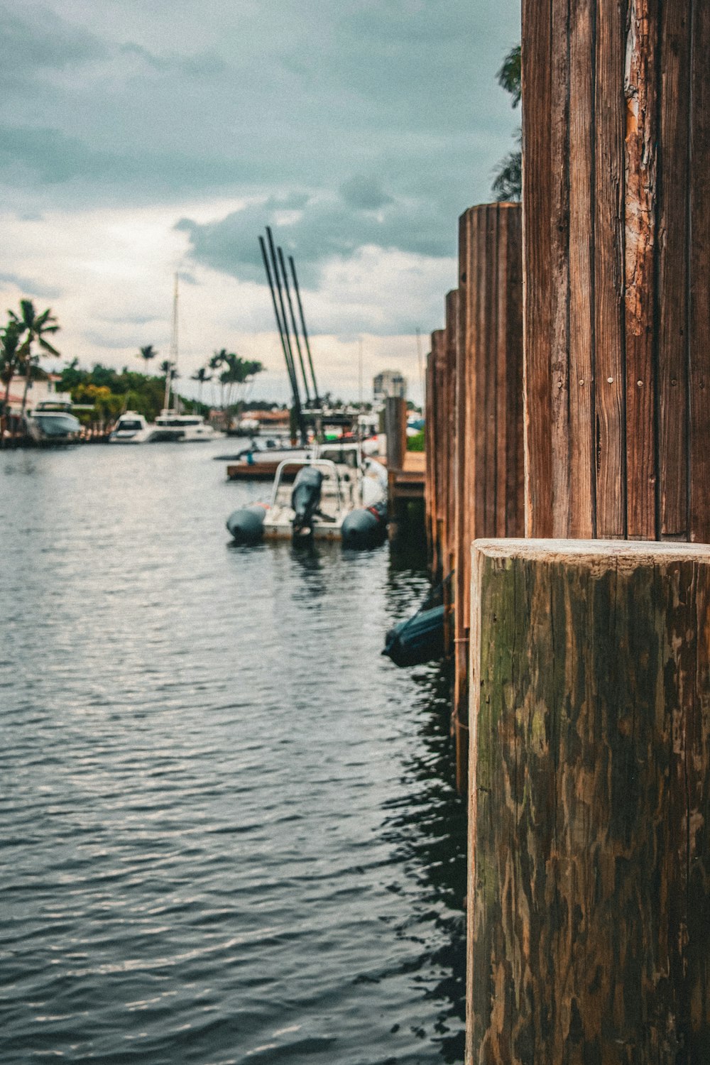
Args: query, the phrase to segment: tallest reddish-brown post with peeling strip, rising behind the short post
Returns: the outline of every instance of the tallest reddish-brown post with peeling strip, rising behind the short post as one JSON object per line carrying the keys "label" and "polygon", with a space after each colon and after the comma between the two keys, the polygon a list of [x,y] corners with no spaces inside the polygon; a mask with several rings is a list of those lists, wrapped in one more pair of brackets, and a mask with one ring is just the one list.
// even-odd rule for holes
{"label": "tallest reddish-brown post with peeling strip, rising behind the short post", "polygon": [[523,0],[529,536],[710,542],[710,5]]}

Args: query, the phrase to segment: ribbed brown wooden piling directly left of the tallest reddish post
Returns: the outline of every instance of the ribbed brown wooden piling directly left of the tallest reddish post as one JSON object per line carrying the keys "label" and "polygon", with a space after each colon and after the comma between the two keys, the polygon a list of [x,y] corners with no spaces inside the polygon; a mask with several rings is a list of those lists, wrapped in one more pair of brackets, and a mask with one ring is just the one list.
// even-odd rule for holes
{"label": "ribbed brown wooden piling directly left of the tallest reddish post", "polygon": [[[468,761],[470,543],[522,536],[523,279],[518,203],[484,203],[459,220],[453,457],[453,733],[457,783]],[[453,318],[453,312],[450,315]],[[448,315],[447,315],[448,334]]]}

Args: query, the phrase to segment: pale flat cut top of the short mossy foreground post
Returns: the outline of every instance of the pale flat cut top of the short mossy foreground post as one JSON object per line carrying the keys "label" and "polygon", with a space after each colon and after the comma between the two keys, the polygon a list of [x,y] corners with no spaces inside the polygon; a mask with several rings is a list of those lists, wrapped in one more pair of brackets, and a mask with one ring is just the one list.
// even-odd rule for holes
{"label": "pale flat cut top of the short mossy foreground post", "polygon": [[710,562],[710,544],[657,542],[655,540],[475,540],[474,555],[486,558],[527,558],[543,562],[562,562],[571,558],[628,562]]}

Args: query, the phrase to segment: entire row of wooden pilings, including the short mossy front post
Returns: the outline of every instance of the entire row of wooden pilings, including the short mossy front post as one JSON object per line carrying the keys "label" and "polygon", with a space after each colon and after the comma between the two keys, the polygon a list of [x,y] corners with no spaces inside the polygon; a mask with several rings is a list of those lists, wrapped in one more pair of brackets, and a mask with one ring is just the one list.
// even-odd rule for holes
{"label": "entire row of wooden pilings, including the short mossy front post", "polygon": [[467,1065],[710,1061],[708,54],[700,0],[524,0],[522,241],[464,213],[432,334]]}

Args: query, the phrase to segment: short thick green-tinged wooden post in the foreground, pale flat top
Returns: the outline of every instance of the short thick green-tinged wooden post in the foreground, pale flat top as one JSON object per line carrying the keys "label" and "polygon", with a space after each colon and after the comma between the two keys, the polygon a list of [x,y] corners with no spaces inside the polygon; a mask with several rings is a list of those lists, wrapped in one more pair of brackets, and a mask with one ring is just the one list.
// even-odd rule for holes
{"label": "short thick green-tinged wooden post in the foreground, pale flat top", "polygon": [[710,1053],[710,547],[477,541],[468,1063]]}

